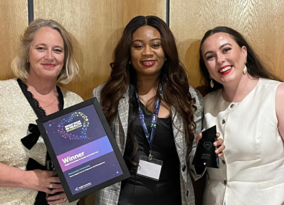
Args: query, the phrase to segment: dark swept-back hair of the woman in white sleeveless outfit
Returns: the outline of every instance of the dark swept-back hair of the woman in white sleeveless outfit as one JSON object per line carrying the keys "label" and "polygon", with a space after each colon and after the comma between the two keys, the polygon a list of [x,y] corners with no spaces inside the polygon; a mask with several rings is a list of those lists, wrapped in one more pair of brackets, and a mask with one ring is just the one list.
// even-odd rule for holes
{"label": "dark swept-back hair of the woman in white sleeveless outfit", "polygon": [[270,71],[266,69],[266,67],[263,65],[261,60],[259,59],[259,56],[253,51],[253,48],[248,44],[248,42],[245,40],[245,38],[242,36],[241,33],[235,31],[234,29],[231,29],[230,27],[215,27],[214,29],[211,29],[207,31],[202,40],[201,45],[199,46],[199,66],[201,68],[201,72],[203,73],[203,79],[205,81],[205,86],[207,92],[213,92],[215,90],[218,90],[223,87],[221,83],[218,83],[217,81],[214,81],[214,87],[210,87],[210,81],[209,78],[209,72],[205,66],[205,61],[203,59],[202,55],[202,46],[205,40],[209,37],[214,35],[215,33],[228,33],[233,40],[242,48],[242,46],[246,46],[247,51],[247,57],[246,57],[246,67],[248,68],[248,74],[250,74],[252,77],[255,78],[263,78],[263,79],[272,79],[276,81],[280,81],[279,78],[274,76]]}

